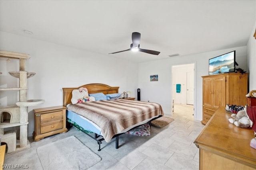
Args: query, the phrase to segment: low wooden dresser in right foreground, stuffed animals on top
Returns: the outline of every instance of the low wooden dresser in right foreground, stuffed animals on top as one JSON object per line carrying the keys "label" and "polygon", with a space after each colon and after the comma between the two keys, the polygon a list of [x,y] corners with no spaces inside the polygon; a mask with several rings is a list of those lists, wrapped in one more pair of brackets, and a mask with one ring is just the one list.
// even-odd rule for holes
{"label": "low wooden dresser in right foreground, stuffed animals on top", "polygon": [[225,107],[220,107],[195,139],[200,170],[256,169],[256,149],[250,147],[254,131],[236,127],[229,118]]}

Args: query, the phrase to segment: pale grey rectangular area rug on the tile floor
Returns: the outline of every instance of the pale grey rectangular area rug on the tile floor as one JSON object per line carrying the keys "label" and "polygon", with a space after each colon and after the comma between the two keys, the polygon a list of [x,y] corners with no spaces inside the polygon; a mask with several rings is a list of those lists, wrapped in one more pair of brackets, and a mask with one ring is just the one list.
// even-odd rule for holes
{"label": "pale grey rectangular area rug on the tile floor", "polygon": [[80,170],[98,163],[101,158],[71,136],[36,149],[44,170]]}

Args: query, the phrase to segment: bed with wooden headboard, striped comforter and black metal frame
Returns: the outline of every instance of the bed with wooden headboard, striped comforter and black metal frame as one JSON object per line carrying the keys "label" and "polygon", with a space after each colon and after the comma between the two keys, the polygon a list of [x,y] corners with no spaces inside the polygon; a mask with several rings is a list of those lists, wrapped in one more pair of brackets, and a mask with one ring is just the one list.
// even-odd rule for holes
{"label": "bed with wooden headboard, striped comforter and black metal frame", "polygon": [[[80,88],[86,88],[90,95],[99,93],[110,95],[118,94],[119,87],[94,83],[76,88],[62,88],[63,106],[68,108],[67,121],[96,140],[99,151],[103,140],[109,142],[115,138],[118,149],[119,135],[146,123],[150,124],[152,120],[164,115],[160,104],[120,98],[72,104],[72,91]],[[94,137],[91,132],[94,133]]]}

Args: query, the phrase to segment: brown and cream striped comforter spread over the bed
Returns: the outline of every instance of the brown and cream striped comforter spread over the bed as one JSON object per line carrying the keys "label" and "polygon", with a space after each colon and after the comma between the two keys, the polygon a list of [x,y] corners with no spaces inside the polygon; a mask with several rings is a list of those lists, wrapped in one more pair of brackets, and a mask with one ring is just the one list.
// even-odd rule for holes
{"label": "brown and cream striped comforter spread over the bed", "polygon": [[122,99],[70,104],[68,110],[98,125],[106,142],[128,127],[164,115],[160,104]]}

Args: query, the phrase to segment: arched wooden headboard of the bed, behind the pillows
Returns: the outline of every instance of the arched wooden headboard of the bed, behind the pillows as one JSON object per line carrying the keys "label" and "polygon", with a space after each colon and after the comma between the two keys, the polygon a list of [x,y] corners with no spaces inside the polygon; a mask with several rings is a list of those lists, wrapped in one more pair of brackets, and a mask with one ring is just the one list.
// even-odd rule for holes
{"label": "arched wooden headboard of the bed, behind the pillows", "polygon": [[75,87],[75,88],[62,88],[63,106],[66,106],[67,104],[71,104],[72,90],[79,89],[81,87],[87,88],[88,94],[100,93],[100,92],[104,94],[112,94],[112,93],[118,93],[118,89],[119,89],[119,87],[111,87],[106,84],[100,84],[100,83],[84,84],[82,86]]}

